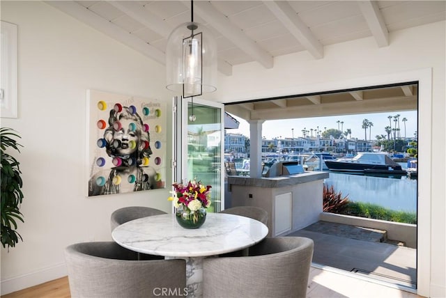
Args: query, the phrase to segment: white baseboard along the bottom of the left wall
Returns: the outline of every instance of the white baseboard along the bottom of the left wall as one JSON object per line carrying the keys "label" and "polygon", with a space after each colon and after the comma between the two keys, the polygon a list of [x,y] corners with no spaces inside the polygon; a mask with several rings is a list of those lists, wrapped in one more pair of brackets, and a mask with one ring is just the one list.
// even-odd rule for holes
{"label": "white baseboard along the bottom of the left wall", "polygon": [[33,285],[40,285],[40,283],[60,279],[63,276],[67,276],[65,262],[36,272],[16,276],[11,279],[5,279],[4,281],[1,281],[0,292],[1,295],[6,295],[32,287]]}

